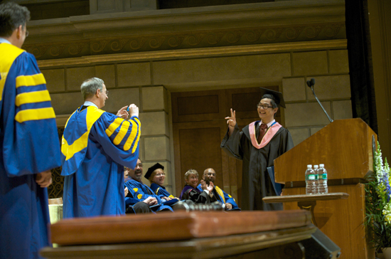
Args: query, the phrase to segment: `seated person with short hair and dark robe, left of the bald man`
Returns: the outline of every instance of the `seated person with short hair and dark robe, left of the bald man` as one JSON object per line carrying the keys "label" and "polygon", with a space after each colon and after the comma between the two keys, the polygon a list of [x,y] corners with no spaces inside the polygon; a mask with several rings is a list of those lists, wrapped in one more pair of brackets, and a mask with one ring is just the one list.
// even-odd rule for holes
{"label": "seated person with short hair and dark robe, left of the bald man", "polygon": [[210,182],[209,185],[206,185],[205,181],[201,180],[201,190],[197,189],[198,184],[198,171],[190,169],[186,171],[185,174],[185,187],[181,192],[180,199],[186,200],[189,199],[195,203],[212,203],[217,201],[216,197],[213,196],[213,182]]}

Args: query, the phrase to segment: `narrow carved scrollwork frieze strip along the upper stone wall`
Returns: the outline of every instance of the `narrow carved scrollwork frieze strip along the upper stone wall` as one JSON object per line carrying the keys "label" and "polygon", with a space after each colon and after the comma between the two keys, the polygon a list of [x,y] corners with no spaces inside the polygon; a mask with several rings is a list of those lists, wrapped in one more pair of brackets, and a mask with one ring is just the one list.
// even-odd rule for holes
{"label": "narrow carved scrollwork frieze strip along the upper stone wall", "polygon": [[143,34],[83,41],[26,44],[26,51],[38,60],[75,58],[80,56],[145,51],[166,51],[215,46],[245,46],[252,44],[286,43],[292,41],[324,41],[346,38],[343,22],[264,28],[214,29],[175,33]]}

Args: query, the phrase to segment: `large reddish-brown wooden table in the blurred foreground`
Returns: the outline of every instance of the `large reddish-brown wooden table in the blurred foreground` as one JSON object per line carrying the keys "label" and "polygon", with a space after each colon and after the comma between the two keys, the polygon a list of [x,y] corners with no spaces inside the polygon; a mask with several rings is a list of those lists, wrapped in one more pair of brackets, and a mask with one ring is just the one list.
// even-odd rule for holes
{"label": "large reddish-brown wooden table in the blurred foreground", "polygon": [[304,258],[311,213],[176,212],[75,218],[51,226],[45,258]]}

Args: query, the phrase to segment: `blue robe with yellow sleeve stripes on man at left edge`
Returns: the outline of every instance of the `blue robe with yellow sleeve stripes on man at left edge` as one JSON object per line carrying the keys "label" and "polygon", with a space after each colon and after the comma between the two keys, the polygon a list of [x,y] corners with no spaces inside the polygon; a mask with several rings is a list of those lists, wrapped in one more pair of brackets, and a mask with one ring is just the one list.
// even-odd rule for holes
{"label": "blue robe with yellow sleeve stripes on man at left edge", "polygon": [[0,43],[0,258],[41,258],[48,191],[36,174],[60,166],[60,142],[36,58]]}

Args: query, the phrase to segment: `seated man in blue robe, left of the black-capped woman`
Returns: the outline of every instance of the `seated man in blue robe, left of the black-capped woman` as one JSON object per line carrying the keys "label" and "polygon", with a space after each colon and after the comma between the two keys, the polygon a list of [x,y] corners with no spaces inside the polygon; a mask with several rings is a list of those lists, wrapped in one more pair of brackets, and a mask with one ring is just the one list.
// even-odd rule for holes
{"label": "seated man in blue robe, left of the black-capped woman", "polygon": [[131,179],[125,182],[125,187],[129,191],[127,197],[125,197],[126,208],[128,209],[129,206],[133,208],[136,203],[143,201],[152,211],[173,211],[171,206],[164,205],[161,198],[141,181],[142,166],[141,160],[137,159],[136,167],[133,170],[128,169]]}

